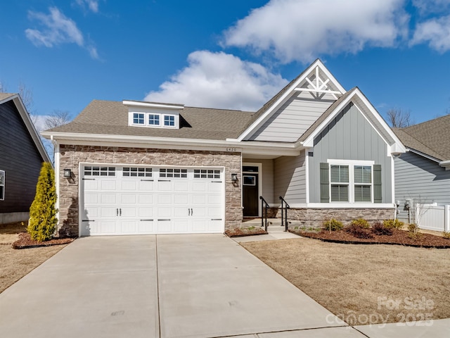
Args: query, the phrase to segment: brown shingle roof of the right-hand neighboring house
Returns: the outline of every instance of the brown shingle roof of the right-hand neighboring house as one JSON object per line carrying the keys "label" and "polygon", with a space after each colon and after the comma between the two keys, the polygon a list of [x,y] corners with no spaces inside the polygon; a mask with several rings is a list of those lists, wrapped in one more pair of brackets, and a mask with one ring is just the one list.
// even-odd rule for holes
{"label": "brown shingle roof of the right-hand neighboring house", "polygon": [[394,130],[407,147],[440,161],[450,160],[450,115]]}

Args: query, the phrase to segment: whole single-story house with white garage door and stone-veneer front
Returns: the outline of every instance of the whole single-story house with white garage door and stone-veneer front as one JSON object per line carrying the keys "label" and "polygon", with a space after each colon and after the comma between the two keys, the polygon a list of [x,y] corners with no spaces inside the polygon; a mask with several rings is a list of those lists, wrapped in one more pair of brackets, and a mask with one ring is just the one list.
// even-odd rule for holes
{"label": "whole single-story house with white garage door and stone-veneer front", "polygon": [[[305,225],[394,217],[399,139],[320,60],[257,112],[92,101],[56,144],[62,234],[224,232],[262,212]],[[67,178],[64,177],[67,174]]]}

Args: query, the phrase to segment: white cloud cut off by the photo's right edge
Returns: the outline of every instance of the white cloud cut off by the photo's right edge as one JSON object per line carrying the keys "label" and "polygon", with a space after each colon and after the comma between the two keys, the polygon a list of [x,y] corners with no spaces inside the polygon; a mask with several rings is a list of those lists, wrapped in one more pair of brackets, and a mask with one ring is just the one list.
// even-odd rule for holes
{"label": "white cloud cut off by the photo's right edge", "polygon": [[450,50],[450,15],[418,23],[411,46],[428,43],[430,48],[441,53]]}

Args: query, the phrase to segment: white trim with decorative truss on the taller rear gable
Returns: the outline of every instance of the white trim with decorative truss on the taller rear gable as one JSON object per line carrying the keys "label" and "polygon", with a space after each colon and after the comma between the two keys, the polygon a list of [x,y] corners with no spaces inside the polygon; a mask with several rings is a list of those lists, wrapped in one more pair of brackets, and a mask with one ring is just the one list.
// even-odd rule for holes
{"label": "white trim with decorative truss on the taller rear gable", "polygon": [[[271,115],[273,115],[277,111],[277,109],[280,108],[285,103],[285,101],[287,101],[290,98],[290,96],[293,95],[294,92],[300,90],[297,89],[297,87],[302,82],[304,82],[304,80],[307,79],[307,77],[311,75],[312,72],[315,72],[316,74],[318,73],[319,68],[328,77],[328,80],[330,80],[328,82],[332,82],[333,85],[336,88],[338,88],[338,92],[336,91],[328,91],[328,92],[330,94],[345,94],[344,87],[341,86],[338,80],[336,80],[335,77],[330,73],[330,71],[325,67],[325,65],[323,65],[322,61],[317,59],[316,61],[311,63],[311,65],[306,70],[304,70],[302,75],[293,84],[290,85],[289,89],[286,90],[285,93],[281,95],[278,98],[278,100],[276,100],[274,104],[267,109],[266,112],[264,112],[264,114],[259,116],[259,118],[257,118],[257,120],[255,120],[255,122],[252,123],[252,125],[250,125],[250,127],[248,127],[247,130],[245,130],[242,134],[240,134],[240,136],[236,140],[243,141],[243,139],[246,139],[251,134],[255,133],[259,129],[259,127],[261,127],[266,122],[266,120],[268,120],[271,117]],[[317,91],[324,92],[322,89],[314,90],[314,92]]]}

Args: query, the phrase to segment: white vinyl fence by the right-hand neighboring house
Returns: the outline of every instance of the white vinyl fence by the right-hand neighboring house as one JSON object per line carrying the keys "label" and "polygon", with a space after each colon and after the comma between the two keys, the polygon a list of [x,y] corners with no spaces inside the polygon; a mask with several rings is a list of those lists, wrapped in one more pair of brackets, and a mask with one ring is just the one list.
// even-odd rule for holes
{"label": "white vinyl fence by the right-hand neighboring house", "polygon": [[416,222],[420,229],[450,232],[450,206],[416,204]]}

